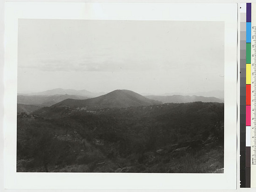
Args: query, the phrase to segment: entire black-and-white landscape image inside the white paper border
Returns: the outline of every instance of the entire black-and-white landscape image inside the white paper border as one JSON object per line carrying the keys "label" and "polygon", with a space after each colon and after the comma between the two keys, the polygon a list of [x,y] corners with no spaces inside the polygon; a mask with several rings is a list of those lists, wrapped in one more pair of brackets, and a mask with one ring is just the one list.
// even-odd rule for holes
{"label": "entire black-and-white landscape image inside the white paper border", "polygon": [[223,21],[18,25],[17,172],[224,172]]}

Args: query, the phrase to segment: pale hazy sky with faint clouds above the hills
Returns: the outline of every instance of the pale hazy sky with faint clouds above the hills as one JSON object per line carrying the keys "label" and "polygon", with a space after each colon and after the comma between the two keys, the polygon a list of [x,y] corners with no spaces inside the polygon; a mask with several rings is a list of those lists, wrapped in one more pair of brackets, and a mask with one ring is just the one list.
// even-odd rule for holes
{"label": "pale hazy sky with faint clouds above the hills", "polygon": [[19,20],[18,93],[224,90],[219,21]]}

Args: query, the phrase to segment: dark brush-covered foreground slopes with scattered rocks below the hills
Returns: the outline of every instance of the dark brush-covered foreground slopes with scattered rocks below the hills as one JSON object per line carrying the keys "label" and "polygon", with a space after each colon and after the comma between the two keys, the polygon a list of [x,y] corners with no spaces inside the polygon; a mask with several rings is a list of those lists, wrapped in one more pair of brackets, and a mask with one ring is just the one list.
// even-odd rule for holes
{"label": "dark brush-covered foreground slopes with scattered rocks below the hills", "polygon": [[223,121],[202,102],[19,113],[17,171],[220,172]]}

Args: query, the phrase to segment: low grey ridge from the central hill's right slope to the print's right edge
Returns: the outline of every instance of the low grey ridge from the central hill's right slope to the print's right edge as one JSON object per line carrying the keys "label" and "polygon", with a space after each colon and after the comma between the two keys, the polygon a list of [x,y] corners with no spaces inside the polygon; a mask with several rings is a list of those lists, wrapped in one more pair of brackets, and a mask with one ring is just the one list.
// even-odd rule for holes
{"label": "low grey ridge from the central hill's right slope to the print's right edge", "polygon": [[145,96],[149,99],[157,100],[162,103],[190,103],[190,102],[217,102],[224,103],[223,100],[216,97],[204,97],[204,96]]}

